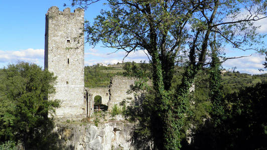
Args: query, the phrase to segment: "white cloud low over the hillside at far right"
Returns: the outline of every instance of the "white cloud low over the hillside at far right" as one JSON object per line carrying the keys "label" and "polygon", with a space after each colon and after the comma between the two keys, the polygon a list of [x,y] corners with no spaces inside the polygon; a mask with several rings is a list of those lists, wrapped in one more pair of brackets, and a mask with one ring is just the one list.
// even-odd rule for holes
{"label": "white cloud low over the hillside at far right", "polygon": [[258,69],[263,69],[262,63],[265,61],[264,55],[253,54],[249,57],[242,57],[237,59],[229,59],[223,63],[224,68],[232,68],[236,66],[236,70],[242,73],[249,74],[261,74],[267,73],[267,71],[259,71]]}

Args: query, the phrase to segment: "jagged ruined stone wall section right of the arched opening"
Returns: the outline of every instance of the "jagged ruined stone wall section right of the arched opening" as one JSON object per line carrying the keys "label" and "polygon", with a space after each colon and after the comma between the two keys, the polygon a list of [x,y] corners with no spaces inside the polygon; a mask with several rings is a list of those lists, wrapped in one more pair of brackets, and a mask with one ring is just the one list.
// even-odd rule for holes
{"label": "jagged ruined stone wall section right of the arched opening", "polygon": [[127,94],[127,90],[130,89],[130,85],[135,83],[135,78],[115,76],[112,77],[109,85],[109,101],[108,101],[108,111],[112,110],[115,104],[119,104],[122,100],[127,100],[128,97],[134,99],[133,93]]}

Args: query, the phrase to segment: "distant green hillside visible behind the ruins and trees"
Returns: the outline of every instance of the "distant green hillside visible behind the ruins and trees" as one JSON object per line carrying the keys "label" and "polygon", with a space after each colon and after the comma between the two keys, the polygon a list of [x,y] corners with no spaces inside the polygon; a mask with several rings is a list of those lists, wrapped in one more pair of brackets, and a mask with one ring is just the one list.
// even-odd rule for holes
{"label": "distant green hillside visible behind the ruins and trees", "polygon": [[[85,66],[84,68],[84,82],[85,87],[106,87],[109,85],[111,77],[115,75],[123,75],[122,64],[113,64],[108,66]],[[174,82],[179,83],[179,79],[183,72],[181,67],[177,67],[177,73],[174,78]],[[208,75],[206,71],[202,71],[196,78],[196,88],[208,88]],[[251,75],[247,73],[237,72],[223,72],[222,73],[222,84],[225,92],[233,92],[238,89],[250,86],[257,82],[267,81],[267,73],[259,75]],[[176,84],[177,84],[176,83]],[[205,89],[202,89],[205,90]]]}

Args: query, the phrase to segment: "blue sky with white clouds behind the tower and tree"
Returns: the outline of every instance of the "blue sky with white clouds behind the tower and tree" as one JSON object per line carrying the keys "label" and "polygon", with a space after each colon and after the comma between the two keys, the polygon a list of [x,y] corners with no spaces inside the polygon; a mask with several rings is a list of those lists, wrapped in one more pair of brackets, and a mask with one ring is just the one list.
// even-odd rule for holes
{"label": "blue sky with white clouds behind the tower and tree", "polygon": [[[58,6],[62,11],[63,4],[71,3],[69,0],[0,0],[0,68],[20,60],[34,62],[44,65],[44,43],[45,43],[45,14],[49,7]],[[71,11],[75,7],[71,7]],[[99,3],[91,5],[85,10],[85,19],[90,22],[99,14],[101,8],[106,6]],[[260,20],[258,30],[267,33],[267,18]],[[265,40],[267,43],[267,39]],[[85,45],[85,65],[92,65],[99,62],[117,63],[121,62],[125,55],[124,51],[107,54],[114,49],[103,48],[100,45],[94,48]],[[263,68],[264,56],[253,53],[253,51],[237,51],[226,47],[228,56],[249,55],[252,56],[231,59],[223,63],[224,68],[236,66],[240,72],[250,74],[267,73],[267,70],[259,72]],[[129,54],[124,61],[147,60],[143,51]]]}

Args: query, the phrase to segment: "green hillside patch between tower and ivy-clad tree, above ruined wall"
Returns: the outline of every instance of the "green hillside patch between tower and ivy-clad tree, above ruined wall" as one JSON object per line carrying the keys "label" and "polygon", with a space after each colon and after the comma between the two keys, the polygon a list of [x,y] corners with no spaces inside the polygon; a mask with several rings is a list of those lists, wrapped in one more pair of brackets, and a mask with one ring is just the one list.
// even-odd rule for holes
{"label": "green hillside patch between tower and ivy-clad tree, above ruined wall", "polygon": [[122,75],[121,67],[106,66],[85,66],[84,86],[85,87],[106,87],[109,85],[111,77]]}

